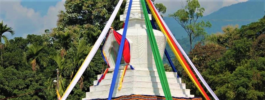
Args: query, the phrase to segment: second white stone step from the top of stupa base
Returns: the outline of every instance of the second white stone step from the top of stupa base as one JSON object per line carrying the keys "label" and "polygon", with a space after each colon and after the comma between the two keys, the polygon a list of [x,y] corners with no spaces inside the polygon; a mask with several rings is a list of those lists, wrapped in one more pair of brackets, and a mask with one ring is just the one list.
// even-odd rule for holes
{"label": "second white stone step from the top of stupa base", "polygon": [[[177,84],[181,83],[181,78],[167,78],[168,83],[172,84]],[[99,85],[108,85],[111,84],[112,79],[103,79],[101,80]],[[127,74],[123,77],[123,82],[128,82],[128,81],[146,81],[146,82],[159,82],[160,79],[159,77],[151,77],[151,76],[127,76]],[[94,85],[96,85],[98,80],[94,81]],[[116,84],[120,82],[120,77],[116,79]]]}

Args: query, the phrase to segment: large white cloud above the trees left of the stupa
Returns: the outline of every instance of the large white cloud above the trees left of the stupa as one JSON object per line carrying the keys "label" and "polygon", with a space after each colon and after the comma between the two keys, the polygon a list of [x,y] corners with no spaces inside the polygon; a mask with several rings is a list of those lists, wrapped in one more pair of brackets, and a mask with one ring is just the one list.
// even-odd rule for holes
{"label": "large white cloud above the trees left of the stupa", "polygon": [[32,8],[23,7],[21,1],[0,1],[0,12],[3,17],[0,20],[14,28],[15,36],[40,35],[45,29],[56,27],[57,15],[60,10],[64,10],[64,2],[65,0],[57,2],[55,6],[49,7],[45,16],[41,16]]}

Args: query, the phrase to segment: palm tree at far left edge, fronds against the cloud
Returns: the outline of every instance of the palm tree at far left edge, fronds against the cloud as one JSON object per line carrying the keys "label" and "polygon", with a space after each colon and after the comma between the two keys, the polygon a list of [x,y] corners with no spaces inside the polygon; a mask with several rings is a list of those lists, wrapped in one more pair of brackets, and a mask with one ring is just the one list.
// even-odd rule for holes
{"label": "palm tree at far left edge, fronds against the cloud", "polygon": [[7,35],[3,35],[5,32],[9,32],[11,36],[15,34],[15,31],[12,27],[8,27],[7,24],[3,24],[3,21],[0,23],[0,49],[1,49],[1,66],[3,67],[3,56],[2,52],[4,50],[4,44],[2,43],[2,39],[4,40],[5,45],[9,43]]}

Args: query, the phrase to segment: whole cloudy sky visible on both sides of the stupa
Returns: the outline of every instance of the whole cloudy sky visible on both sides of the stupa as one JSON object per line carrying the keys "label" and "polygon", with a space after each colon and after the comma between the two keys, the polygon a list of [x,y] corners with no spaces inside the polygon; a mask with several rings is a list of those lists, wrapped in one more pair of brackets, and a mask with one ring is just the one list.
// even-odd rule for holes
{"label": "whole cloudy sky visible on both sides of the stupa", "polygon": [[[199,0],[205,8],[204,16],[217,11],[218,9],[245,2],[248,0]],[[28,34],[41,35],[45,29],[56,27],[57,15],[64,10],[65,0],[0,0],[0,21],[13,27],[13,37],[26,37]],[[185,0],[155,0],[156,3],[163,3],[167,7],[167,16],[176,12],[182,7]]]}

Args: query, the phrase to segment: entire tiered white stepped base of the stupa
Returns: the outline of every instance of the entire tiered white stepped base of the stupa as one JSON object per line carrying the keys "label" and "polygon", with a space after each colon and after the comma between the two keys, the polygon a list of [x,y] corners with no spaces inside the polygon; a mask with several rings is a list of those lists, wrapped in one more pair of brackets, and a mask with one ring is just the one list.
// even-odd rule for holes
{"label": "entire tiered white stepped base of the stupa", "polygon": [[[113,98],[129,96],[131,94],[165,96],[156,70],[126,70],[122,88],[118,90],[122,73],[123,70],[119,70],[112,96]],[[173,97],[194,97],[194,95],[190,95],[190,90],[186,89],[186,84],[181,83],[181,78],[177,78],[177,73],[165,73]],[[98,75],[97,79],[100,79],[100,76],[101,75]],[[112,76],[113,72],[107,73],[98,86],[91,86],[90,92],[86,93],[86,98],[83,98],[83,100],[108,98]],[[94,81],[94,85],[96,85],[97,82],[98,80]]]}

